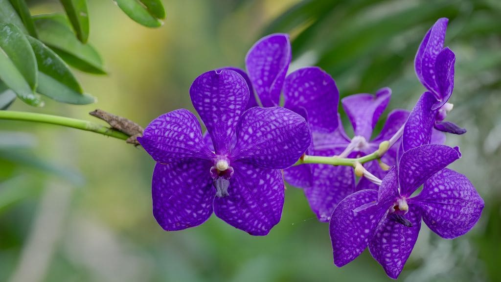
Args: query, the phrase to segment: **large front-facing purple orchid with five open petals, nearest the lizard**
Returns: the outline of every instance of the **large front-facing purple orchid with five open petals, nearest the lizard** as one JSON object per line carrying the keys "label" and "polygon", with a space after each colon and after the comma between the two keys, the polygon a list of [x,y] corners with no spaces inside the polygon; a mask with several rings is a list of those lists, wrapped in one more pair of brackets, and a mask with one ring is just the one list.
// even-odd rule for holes
{"label": "large front-facing purple orchid with five open petals, nearest the lizard", "polygon": [[232,70],[200,75],[190,97],[214,150],[185,109],[157,117],[138,138],[157,162],[155,219],[165,230],[181,230],[202,224],[214,211],[249,234],[268,234],[282,216],[280,170],[293,165],[311,143],[306,120],[282,107],[245,110],[248,86]]}

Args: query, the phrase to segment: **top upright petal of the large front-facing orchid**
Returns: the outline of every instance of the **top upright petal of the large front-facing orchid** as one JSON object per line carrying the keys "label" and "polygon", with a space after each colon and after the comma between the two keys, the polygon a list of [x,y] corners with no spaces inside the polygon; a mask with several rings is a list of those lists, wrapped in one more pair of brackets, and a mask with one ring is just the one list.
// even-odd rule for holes
{"label": "top upright petal of the large front-facing orchid", "polygon": [[210,134],[216,154],[228,154],[249,98],[247,83],[232,70],[208,71],[191,84],[190,97]]}

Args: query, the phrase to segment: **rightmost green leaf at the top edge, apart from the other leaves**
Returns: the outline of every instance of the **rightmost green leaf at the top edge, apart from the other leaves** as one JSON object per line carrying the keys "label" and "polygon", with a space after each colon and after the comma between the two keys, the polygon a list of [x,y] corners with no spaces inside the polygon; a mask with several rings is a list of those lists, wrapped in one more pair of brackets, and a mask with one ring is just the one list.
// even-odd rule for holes
{"label": "rightmost green leaf at the top edge, apart from the other leaves", "polygon": [[159,19],[165,18],[165,10],[160,0],[116,0],[116,3],[129,18],[150,28],[162,26]]}

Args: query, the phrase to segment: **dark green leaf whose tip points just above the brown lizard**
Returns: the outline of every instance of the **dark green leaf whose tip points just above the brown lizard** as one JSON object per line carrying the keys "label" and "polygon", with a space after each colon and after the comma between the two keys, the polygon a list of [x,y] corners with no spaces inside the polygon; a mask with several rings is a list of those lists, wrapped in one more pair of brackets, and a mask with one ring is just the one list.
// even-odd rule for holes
{"label": "dark green leaf whose tip points just above the brown lizard", "polygon": [[37,91],[56,101],[70,104],[91,104],[95,98],[83,93],[82,87],[68,65],[49,47],[29,37],[37,57],[39,79]]}

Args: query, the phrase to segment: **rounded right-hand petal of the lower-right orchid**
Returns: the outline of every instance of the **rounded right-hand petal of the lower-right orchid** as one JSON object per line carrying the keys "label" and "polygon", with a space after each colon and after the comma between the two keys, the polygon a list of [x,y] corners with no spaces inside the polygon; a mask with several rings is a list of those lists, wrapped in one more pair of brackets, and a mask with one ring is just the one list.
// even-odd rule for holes
{"label": "rounded right-hand petal of the lower-right orchid", "polygon": [[429,178],[421,193],[411,200],[421,208],[424,223],[446,239],[461,236],[473,228],[484,205],[471,182],[449,169]]}

